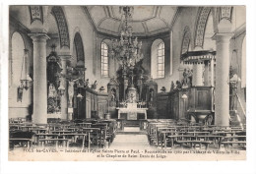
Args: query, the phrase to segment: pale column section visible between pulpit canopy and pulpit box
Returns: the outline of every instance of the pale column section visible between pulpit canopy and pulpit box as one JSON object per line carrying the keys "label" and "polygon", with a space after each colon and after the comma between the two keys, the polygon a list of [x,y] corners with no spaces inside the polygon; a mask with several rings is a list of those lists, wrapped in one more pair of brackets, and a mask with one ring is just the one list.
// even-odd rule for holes
{"label": "pale column section visible between pulpit canopy and pulpit box", "polygon": [[194,64],[193,65],[193,79],[192,86],[204,86],[203,85],[203,65],[204,64]]}

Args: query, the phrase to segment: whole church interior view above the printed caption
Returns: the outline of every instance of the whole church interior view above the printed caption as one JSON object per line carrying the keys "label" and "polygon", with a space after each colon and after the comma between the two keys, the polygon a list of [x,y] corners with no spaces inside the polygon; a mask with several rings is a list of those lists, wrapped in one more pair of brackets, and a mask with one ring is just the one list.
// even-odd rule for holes
{"label": "whole church interior view above the printed caption", "polygon": [[246,150],[244,6],[10,6],[9,149]]}

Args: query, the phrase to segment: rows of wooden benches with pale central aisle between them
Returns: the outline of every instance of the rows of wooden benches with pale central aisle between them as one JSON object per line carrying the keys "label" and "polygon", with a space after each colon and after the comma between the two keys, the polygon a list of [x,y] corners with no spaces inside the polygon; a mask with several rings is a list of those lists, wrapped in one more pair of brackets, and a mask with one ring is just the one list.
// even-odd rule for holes
{"label": "rows of wooden benches with pale central aisle between them", "polygon": [[224,149],[245,150],[246,129],[205,126],[175,120],[140,120],[125,127],[123,120],[77,120],[34,125],[10,120],[10,148],[69,149]]}

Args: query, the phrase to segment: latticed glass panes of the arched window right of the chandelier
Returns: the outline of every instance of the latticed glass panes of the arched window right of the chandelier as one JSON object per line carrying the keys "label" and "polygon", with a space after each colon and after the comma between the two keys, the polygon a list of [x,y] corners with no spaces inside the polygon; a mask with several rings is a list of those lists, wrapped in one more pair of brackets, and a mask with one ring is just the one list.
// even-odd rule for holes
{"label": "latticed glass panes of the arched window right of the chandelier", "polygon": [[157,58],[157,76],[158,78],[164,78],[164,43],[160,42],[158,46],[158,58]]}

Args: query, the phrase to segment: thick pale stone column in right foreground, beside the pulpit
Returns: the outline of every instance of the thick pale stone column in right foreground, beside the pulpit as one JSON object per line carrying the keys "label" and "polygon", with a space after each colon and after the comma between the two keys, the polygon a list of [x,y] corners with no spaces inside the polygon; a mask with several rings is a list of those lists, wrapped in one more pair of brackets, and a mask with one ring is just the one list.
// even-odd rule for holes
{"label": "thick pale stone column in right foreground, beside the pulpit", "polygon": [[229,40],[230,33],[217,33],[215,125],[229,125]]}

